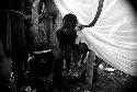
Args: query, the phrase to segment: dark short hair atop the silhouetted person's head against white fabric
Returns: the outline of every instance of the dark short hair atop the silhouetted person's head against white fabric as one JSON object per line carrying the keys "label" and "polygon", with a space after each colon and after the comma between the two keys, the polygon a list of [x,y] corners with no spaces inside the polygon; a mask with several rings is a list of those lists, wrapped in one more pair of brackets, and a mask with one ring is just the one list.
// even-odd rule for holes
{"label": "dark short hair atop the silhouetted person's head against white fabric", "polygon": [[65,22],[71,22],[73,24],[77,24],[78,23],[78,20],[77,20],[77,16],[72,13],[68,13],[64,16],[62,21]]}

